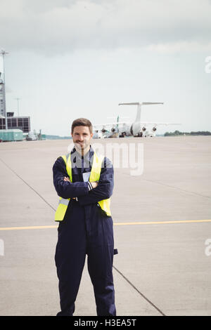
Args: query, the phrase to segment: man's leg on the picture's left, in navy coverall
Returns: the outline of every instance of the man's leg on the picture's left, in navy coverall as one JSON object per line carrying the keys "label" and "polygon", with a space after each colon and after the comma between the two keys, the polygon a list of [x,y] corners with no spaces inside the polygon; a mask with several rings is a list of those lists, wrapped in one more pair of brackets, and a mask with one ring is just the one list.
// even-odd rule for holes
{"label": "man's leg on the picture's left, in navy coverall", "polygon": [[84,219],[77,210],[66,218],[58,227],[55,262],[60,293],[58,316],[72,316],[75,311],[75,300],[82,278],[86,258],[86,232]]}

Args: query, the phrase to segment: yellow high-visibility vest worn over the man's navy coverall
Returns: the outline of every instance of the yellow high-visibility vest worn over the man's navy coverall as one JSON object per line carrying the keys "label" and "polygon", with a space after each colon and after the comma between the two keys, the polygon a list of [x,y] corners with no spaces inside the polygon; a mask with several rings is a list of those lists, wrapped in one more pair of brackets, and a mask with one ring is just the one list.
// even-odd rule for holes
{"label": "yellow high-visibility vest worn over the man's navy coverall", "polygon": [[[68,154],[67,156],[63,155],[62,157],[66,164],[66,170],[67,170],[68,176],[70,178],[70,181],[72,182],[71,154]],[[102,164],[103,159],[104,159],[103,156],[97,156],[96,153],[94,152],[93,164],[91,166],[91,173],[90,173],[90,177],[89,177],[90,182],[100,180],[101,164]],[[59,197],[58,208],[56,209],[56,214],[55,214],[55,221],[63,220],[63,218],[65,217],[65,213],[68,209],[69,202],[70,202],[70,198],[65,199],[65,198]],[[110,198],[103,199],[102,201],[98,202],[98,204],[99,204],[99,206],[101,206],[101,209],[106,212],[107,216],[111,216]]]}

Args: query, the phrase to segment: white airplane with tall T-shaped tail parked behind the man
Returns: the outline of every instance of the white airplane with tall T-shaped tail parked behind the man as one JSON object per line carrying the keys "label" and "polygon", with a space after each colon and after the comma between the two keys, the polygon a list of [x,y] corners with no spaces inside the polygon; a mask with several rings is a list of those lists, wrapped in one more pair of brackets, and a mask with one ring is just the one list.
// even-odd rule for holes
{"label": "white airplane with tall T-shaped tail parked behind the man", "polygon": [[[110,133],[116,133],[116,136],[120,138],[124,138],[124,136],[134,136],[134,137],[146,137],[146,136],[155,136],[155,131],[157,131],[158,125],[180,125],[179,123],[156,123],[141,121],[141,105],[160,105],[163,104],[161,102],[134,102],[134,103],[119,103],[119,105],[137,105],[136,110],[136,119],[133,122],[120,122],[117,121],[115,123],[109,124],[98,124],[95,126],[103,126],[101,129],[102,133],[108,133],[106,130],[106,126],[112,126],[110,129]],[[152,131],[146,131],[146,126],[153,125]]]}

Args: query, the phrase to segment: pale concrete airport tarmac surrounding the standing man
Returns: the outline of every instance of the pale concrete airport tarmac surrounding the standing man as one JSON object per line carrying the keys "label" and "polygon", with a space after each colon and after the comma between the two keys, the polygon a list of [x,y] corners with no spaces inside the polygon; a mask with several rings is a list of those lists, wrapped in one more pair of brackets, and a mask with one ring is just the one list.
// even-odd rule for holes
{"label": "pale concrete airport tarmac surrounding the standing man", "polygon": [[[105,150],[109,143],[124,144],[132,152],[135,145],[137,159],[142,155],[140,171],[122,166],[127,155],[121,152],[115,167],[111,211],[118,249],[113,263],[117,315],[211,315],[211,137],[92,142]],[[60,310],[52,166],[70,143],[0,143],[0,315],[56,315]],[[87,263],[77,315],[96,315]]]}

